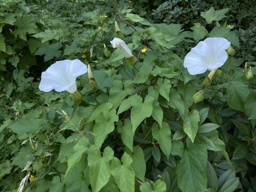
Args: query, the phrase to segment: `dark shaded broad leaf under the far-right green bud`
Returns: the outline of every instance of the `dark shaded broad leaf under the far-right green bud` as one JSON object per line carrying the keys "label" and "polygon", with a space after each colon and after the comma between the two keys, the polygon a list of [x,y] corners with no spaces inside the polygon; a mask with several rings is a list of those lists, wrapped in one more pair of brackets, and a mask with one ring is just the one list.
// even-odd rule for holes
{"label": "dark shaded broad leaf under the far-right green bud", "polygon": [[228,106],[244,112],[244,102],[249,95],[249,87],[241,81],[230,82],[227,89]]}

